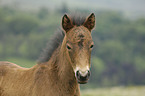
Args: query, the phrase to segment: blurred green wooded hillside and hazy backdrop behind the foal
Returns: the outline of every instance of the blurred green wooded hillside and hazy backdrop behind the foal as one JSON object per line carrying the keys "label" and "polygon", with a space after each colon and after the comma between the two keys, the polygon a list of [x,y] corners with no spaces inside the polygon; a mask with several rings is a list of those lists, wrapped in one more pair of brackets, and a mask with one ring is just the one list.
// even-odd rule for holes
{"label": "blurred green wooded hillside and hazy backdrop behind the foal", "polygon": [[[145,85],[144,4],[144,0],[0,0],[0,61],[22,67],[35,65],[46,43],[61,27],[64,13],[94,12],[92,74],[81,89]],[[144,87],[136,89],[145,92]]]}

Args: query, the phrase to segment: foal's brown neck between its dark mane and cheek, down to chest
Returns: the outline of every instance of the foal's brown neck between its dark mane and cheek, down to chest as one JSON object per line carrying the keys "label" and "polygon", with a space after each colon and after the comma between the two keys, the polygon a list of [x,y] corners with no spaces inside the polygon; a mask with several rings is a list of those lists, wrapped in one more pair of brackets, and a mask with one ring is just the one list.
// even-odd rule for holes
{"label": "foal's brown neck between its dark mane and cheek, down to chest", "polygon": [[[61,46],[56,49],[51,59],[48,61],[48,66],[54,70],[51,74],[55,76],[52,79],[57,79],[69,93],[77,93],[79,91],[78,83],[76,81],[71,60],[66,51],[65,37]],[[60,82],[59,82],[60,81]]]}

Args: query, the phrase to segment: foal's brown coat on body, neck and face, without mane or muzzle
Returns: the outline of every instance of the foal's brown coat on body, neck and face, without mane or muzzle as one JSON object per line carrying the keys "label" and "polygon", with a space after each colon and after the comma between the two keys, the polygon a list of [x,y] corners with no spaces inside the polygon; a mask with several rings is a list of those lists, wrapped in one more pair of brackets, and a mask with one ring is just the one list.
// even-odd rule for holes
{"label": "foal's brown coat on body, neck and face, without mane or muzzle", "polygon": [[[0,62],[0,96],[80,96],[74,68],[77,64],[87,66],[81,62],[90,64],[89,47],[92,38],[89,30],[92,29],[83,25],[71,25],[72,23],[67,26],[69,17],[65,17],[65,37],[49,61],[41,62],[32,68]],[[66,48],[67,44],[71,46],[71,51]]]}

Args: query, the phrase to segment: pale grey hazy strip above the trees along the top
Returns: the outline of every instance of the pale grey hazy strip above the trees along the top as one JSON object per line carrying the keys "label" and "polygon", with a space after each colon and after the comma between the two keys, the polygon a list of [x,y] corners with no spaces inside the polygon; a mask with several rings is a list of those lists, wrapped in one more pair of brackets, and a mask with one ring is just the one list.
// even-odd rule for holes
{"label": "pale grey hazy strip above the trees along the top", "polygon": [[66,4],[70,9],[119,10],[126,15],[145,16],[144,0],[0,0],[0,4],[19,7],[24,10],[36,10],[40,7],[53,10]]}

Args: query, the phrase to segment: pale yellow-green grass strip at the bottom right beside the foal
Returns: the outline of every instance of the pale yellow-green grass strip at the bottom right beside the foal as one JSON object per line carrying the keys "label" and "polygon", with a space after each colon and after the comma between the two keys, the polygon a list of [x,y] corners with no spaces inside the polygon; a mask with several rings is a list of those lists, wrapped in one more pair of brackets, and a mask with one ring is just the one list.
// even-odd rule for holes
{"label": "pale yellow-green grass strip at the bottom right beside the foal", "polygon": [[145,96],[145,86],[88,89],[81,96]]}

